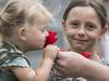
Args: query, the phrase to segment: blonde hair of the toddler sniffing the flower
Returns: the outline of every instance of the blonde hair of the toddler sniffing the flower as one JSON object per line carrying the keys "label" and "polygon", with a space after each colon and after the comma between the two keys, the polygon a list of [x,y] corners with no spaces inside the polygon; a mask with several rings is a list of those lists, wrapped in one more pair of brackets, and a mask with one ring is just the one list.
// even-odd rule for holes
{"label": "blonde hair of the toddler sniffing the flower", "polygon": [[14,29],[52,18],[52,14],[38,0],[9,0],[0,13],[0,32],[11,36]]}

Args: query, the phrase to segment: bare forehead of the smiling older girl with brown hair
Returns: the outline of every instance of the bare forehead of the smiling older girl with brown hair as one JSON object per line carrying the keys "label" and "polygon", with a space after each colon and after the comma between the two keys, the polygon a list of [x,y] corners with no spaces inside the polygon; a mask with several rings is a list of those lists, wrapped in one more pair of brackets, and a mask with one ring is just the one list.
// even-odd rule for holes
{"label": "bare forehead of the smiling older girl with brown hair", "polygon": [[90,18],[90,19],[99,21],[99,17],[98,17],[95,9],[93,9],[92,6],[75,6],[75,8],[71,9],[68,17],[69,18],[78,17],[81,19]]}

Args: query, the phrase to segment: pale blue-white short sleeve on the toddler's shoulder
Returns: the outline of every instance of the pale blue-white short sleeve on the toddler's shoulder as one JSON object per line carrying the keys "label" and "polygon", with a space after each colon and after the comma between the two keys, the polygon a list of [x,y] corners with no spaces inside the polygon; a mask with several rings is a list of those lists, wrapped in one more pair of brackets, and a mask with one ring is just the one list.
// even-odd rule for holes
{"label": "pale blue-white short sleeve on the toddler's shoulder", "polygon": [[27,60],[23,57],[16,57],[11,62],[7,60],[2,66],[3,67],[9,67],[9,66],[29,67]]}

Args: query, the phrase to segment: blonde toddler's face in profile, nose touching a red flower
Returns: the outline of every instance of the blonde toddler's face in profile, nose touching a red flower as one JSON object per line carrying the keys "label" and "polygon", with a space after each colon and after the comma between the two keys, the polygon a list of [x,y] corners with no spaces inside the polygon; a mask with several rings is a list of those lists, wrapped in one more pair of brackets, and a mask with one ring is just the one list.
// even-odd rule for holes
{"label": "blonde toddler's face in profile, nose touching a red flower", "polygon": [[32,27],[26,29],[26,44],[32,50],[43,49],[46,42],[48,31],[46,30],[47,22],[36,22]]}

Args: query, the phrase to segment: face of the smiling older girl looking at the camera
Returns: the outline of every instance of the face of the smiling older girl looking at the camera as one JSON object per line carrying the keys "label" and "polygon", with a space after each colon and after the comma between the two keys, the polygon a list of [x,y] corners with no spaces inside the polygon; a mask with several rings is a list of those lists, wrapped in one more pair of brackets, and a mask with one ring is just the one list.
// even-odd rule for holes
{"label": "face of the smiling older girl looking at the camera", "polygon": [[71,49],[76,52],[93,50],[102,36],[99,17],[90,6],[71,9],[63,26]]}

